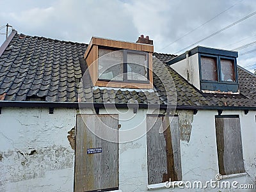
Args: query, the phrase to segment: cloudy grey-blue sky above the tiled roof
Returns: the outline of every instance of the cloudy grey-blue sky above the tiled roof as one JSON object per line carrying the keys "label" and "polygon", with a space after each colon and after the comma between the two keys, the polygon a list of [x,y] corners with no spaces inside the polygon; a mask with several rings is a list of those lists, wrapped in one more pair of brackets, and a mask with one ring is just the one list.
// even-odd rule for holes
{"label": "cloudy grey-blue sky above the tiled roof", "polygon": [[254,0],[1,0],[0,7],[0,27],[9,23],[26,35],[89,43],[92,36],[135,42],[144,34],[156,52],[172,54],[196,45],[240,47],[238,64],[256,68]]}

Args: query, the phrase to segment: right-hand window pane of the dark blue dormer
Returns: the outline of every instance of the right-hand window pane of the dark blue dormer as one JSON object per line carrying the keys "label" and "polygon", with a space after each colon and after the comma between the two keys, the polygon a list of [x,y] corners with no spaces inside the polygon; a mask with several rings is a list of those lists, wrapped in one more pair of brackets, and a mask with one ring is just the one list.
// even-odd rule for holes
{"label": "right-hand window pane of the dark blue dormer", "polygon": [[234,71],[234,61],[220,59],[221,65],[221,81],[236,81],[235,71]]}

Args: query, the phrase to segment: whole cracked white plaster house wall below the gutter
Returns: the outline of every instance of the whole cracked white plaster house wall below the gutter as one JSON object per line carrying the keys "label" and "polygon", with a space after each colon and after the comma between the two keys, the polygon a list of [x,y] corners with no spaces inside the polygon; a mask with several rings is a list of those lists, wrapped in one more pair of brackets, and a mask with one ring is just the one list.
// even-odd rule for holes
{"label": "whole cracked white plaster house wall below the gutter", "polygon": [[[0,191],[73,191],[74,150],[67,132],[76,125],[75,109],[3,108],[0,115]],[[100,109],[100,113],[119,115],[119,184],[126,191],[147,191],[147,130],[146,115],[152,111],[132,109]],[[255,111],[223,111],[224,115],[240,116],[243,156],[247,175],[236,180],[253,184],[256,179]],[[198,111],[193,116],[189,142],[180,141],[182,179],[184,181],[214,180],[218,173],[215,115],[217,111]],[[135,128],[134,128],[135,127]],[[131,131],[131,129],[134,130]],[[136,139],[128,142],[131,132]],[[32,150],[36,153],[29,155]],[[255,190],[256,185],[254,185]],[[155,189],[154,191],[240,191],[217,189]],[[250,190],[243,190],[250,191]]]}

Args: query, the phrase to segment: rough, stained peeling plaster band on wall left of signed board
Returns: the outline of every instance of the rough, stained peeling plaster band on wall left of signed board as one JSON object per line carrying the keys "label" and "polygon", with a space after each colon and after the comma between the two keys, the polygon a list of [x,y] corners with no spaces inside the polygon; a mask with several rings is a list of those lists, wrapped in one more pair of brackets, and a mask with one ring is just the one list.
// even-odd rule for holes
{"label": "rough, stained peeling plaster band on wall left of signed board", "polygon": [[74,152],[56,145],[38,150],[9,150],[3,153],[1,162],[4,164],[0,164],[0,169],[4,177],[0,177],[0,182],[36,179],[44,177],[48,171],[72,168],[73,156]]}

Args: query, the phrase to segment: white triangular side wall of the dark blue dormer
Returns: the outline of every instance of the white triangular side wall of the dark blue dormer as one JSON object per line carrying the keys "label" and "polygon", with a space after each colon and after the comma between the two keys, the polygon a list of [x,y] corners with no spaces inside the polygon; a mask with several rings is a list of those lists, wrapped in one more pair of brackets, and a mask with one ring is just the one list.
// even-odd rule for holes
{"label": "white triangular side wall of the dark blue dormer", "polygon": [[[188,66],[187,60],[181,60],[177,63],[170,65],[180,76],[184,79],[188,79]],[[200,90],[200,74],[199,74],[199,64],[198,64],[198,53],[189,56],[189,83],[193,84],[198,90]]]}

